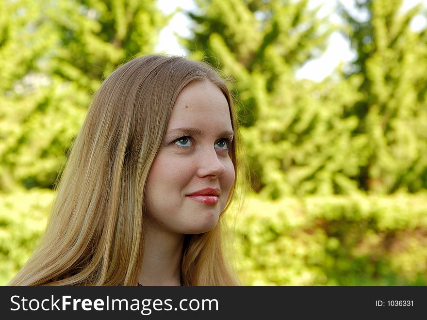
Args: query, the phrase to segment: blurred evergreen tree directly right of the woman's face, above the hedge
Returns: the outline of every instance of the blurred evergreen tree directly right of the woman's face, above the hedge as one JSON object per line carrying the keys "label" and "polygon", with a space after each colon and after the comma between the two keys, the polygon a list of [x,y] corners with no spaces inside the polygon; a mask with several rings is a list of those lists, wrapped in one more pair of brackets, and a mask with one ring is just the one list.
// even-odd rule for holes
{"label": "blurred evergreen tree directly right of the woman's face, above the hedge", "polygon": [[335,29],[328,16],[320,18],[308,0],[197,3],[186,46],[236,80],[252,189],[272,199],[357,190],[351,176],[358,164],[347,162],[359,158],[358,141],[350,143],[357,119],[343,107],[343,99],[356,99],[353,84],[295,77],[326,48]]}

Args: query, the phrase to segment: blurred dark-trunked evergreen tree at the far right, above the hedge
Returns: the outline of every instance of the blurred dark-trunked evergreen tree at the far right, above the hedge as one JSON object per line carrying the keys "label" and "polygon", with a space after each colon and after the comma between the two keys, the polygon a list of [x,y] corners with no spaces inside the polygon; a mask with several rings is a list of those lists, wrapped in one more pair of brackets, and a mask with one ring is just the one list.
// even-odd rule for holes
{"label": "blurred dark-trunked evergreen tree at the far right, above the hedge", "polygon": [[[402,0],[356,1],[363,18],[342,8],[357,51],[348,79],[361,93],[347,112],[366,154],[357,176],[374,193],[427,188],[427,29],[411,29],[421,4],[402,12]],[[360,15],[361,16],[361,15]]]}

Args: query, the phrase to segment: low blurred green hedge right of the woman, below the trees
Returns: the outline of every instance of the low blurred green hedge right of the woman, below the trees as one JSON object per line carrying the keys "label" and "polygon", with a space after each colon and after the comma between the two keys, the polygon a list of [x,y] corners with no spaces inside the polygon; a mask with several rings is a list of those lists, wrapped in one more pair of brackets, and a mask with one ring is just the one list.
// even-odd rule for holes
{"label": "low blurred green hedge right of the woman, below the trees", "polygon": [[236,225],[246,285],[427,285],[427,194],[252,197]]}

